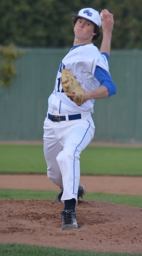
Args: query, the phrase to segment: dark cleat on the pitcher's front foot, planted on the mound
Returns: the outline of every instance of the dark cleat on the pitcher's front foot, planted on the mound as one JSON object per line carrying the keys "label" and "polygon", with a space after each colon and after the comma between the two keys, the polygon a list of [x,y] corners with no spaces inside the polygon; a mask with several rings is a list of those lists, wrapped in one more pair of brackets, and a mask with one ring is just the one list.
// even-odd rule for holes
{"label": "dark cleat on the pitcher's front foot, planted on the mound", "polygon": [[61,211],[62,216],[62,230],[78,229],[76,222],[76,214],[72,210]]}

